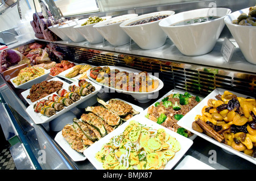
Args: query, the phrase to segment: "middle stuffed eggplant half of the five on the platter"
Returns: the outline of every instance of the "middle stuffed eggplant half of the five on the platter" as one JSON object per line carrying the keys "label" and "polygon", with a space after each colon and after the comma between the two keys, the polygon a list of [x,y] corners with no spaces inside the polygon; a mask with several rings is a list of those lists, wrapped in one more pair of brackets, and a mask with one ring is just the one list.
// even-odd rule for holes
{"label": "middle stuffed eggplant half of the five on the platter", "polygon": [[83,113],[81,115],[81,120],[85,121],[86,123],[92,125],[92,127],[94,127],[95,129],[97,129],[97,131],[100,132],[101,137],[106,136],[107,132],[104,125],[95,116]]}

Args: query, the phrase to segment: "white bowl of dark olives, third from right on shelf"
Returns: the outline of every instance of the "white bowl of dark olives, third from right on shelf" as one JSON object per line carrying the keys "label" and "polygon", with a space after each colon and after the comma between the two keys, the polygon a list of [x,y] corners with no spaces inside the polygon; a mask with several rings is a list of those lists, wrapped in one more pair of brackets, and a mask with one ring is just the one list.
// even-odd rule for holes
{"label": "white bowl of dark olives, third from right on shelf", "polygon": [[151,16],[173,14],[175,14],[174,11],[151,12],[149,14],[140,15],[133,19],[126,20],[125,22],[120,24],[120,27],[142,49],[155,49],[163,46],[164,43],[166,43],[167,39],[166,33],[164,33],[163,30],[158,25],[160,20],[150,23],[138,24],[134,26],[127,25],[133,22],[137,22],[138,20],[150,18]]}

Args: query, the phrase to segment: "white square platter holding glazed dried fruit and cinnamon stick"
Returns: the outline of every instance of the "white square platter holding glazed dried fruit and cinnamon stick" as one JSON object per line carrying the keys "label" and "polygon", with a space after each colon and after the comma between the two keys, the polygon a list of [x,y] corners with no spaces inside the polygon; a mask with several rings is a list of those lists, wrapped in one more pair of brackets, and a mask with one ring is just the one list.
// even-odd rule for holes
{"label": "white square platter holding glazed dried fruit and cinnamon stick", "polygon": [[[245,153],[242,153],[241,151],[237,151],[229,145],[218,142],[218,141],[214,140],[213,138],[207,136],[204,133],[199,133],[199,132],[192,129],[192,123],[193,123],[193,121],[195,121],[196,115],[201,115],[201,111],[202,111],[203,107],[207,105],[208,100],[209,99],[216,99],[215,96],[218,95],[218,94],[224,94],[224,91],[225,91],[224,89],[215,89],[215,90],[213,90],[208,96],[206,96],[203,100],[201,100],[201,102],[199,104],[197,104],[197,106],[195,106],[181,120],[179,120],[177,124],[180,125],[180,127],[188,129],[189,131],[196,134],[197,136],[200,136],[201,138],[204,138],[205,140],[211,142],[212,144],[220,146],[220,148],[228,151],[229,153],[235,154],[238,157],[241,157],[243,159],[246,159],[249,162],[252,162],[252,163],[256,164],[256,159],[255,158],[253,158],[253,157],[251,157],[251,156],[249,156]],[[229,91],[229,92],[232,92],[232,91]],[[237,92],[232,92],[232,93],[236,94],[237,96],[241,96],[243,98],[247,97],[246,95],[239,94]]]}

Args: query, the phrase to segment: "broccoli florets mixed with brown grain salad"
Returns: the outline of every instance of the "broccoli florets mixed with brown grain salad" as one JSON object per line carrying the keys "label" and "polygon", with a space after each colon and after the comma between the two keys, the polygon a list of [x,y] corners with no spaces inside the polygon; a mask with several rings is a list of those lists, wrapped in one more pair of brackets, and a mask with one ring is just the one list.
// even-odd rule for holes
{"label": "broccoli florets mixed with brown grain salad", "polygon": [[188,92],[184,94],[170,94],[160,100],[160,102],[156,102],[154,105],[148,107],[145,116],[176,133],[190,137],[193,134],[177,125],[177,121],[182,119],[182,117],[192,110],[200,101],[199,96],[193,96]]}

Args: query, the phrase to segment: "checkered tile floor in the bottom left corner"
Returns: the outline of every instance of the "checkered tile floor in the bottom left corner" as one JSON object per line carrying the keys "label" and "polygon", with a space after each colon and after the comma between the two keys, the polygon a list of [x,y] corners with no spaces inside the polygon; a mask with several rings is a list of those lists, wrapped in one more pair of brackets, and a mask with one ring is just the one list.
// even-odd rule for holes
{"label": "checkered tile floor in the bottom left corner", "polygon": [[13,157],[11,157],[10,145],[0,150],[0,170],[16,170]]}

